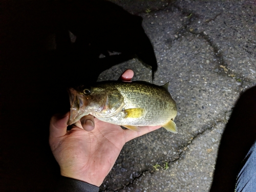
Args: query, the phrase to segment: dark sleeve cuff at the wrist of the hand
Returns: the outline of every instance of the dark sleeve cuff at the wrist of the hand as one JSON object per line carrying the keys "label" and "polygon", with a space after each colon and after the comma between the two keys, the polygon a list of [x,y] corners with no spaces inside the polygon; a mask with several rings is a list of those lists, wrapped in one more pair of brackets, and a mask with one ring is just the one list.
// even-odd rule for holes
{"label": "dark sleeve cuff at the wrist of the hand", "polygon": [[98,192],[99,187],[84,181],[60,176],[56,192]]}

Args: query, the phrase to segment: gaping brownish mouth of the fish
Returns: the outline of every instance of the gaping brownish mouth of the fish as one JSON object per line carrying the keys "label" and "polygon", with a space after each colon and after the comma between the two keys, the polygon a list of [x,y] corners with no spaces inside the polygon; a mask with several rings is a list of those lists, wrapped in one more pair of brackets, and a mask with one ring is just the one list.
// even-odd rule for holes
{"label": "gaping brownish mouth of the fish", "polygon": [[68,92],[70,100],[70,118],[68,125],[71,125],[79,121],[84,115],[88,115],[85,111],[87,100],[73,88],[68,89]]}

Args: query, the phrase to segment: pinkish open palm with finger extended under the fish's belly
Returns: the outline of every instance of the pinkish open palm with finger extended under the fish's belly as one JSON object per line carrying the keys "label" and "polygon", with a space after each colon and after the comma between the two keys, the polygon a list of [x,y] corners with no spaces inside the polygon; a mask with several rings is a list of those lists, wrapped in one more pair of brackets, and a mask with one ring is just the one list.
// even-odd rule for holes
{"label": "pinkish open palm with finger extended under the fish's belly", "polygon": [[135,132],[123,130],[119,125],[102,122],[97,118],[94,120],[95,128],[91,132],[73,127],[52,146],[61,175],[73,178],[79,175],[80,180],[89,183],[93,183],[93,178],[100,185],[113,167],[125,142],[160,127],[141,127],[140,132]]}

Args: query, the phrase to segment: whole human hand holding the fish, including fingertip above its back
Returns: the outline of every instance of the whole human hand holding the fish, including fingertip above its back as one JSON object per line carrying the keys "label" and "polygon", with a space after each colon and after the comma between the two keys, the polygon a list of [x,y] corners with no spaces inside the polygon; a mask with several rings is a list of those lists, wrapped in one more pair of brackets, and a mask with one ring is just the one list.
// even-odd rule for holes
{"label": "whole human hand holding the fish, including fingertip above its back", "polygon": [[[130,81],[133,74],[132,70],[126,70],[120,80]],[[127,141],[161,127],[144,126],[135,132],[88,115],[81,119],[80,125],[67,131],[69,116],[70,113],[55,115],[50,122],[49,143],[60,174],[96,186],[109,174]]]}

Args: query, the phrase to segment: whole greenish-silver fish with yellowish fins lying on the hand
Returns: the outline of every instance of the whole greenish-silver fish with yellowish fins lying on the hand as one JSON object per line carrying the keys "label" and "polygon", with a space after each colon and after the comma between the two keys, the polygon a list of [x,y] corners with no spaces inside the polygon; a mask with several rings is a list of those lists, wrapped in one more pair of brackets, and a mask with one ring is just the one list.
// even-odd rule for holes
{"label": "whole greenish-silver fish with yellowish fins lying on the hand", "polygon": [[134,131],[139,131],[140,126],[161,125],[177,133],[174,122],[177,106],[168,91],[168,82],[157,86],[145,81],[99,81],[91,86],[70,88],[68,92],[69,125],[91,114]]}

